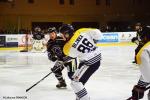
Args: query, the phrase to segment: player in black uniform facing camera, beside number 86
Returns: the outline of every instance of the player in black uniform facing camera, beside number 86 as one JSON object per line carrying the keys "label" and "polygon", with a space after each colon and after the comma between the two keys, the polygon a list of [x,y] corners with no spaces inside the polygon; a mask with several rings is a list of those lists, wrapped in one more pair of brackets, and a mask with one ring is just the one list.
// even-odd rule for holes
{"label": "player in black uniform facing camera, beside number 86", "polygon": [[67,85],[62,76],[62,70],[64,67],[67,67],[68,76],[70,79],[72,79],[72,75],[78,66],[78,60],[76,58],[71,58],[64,55],[63,46],[66,41],[61,36],[58,36],[55,27],[49,28],[48,32],[50,33],[51,38],[47,43],[48,58],[51,61],[56,61],[54,67],[51,70],[59,81],[56,87],[64,88]]}

